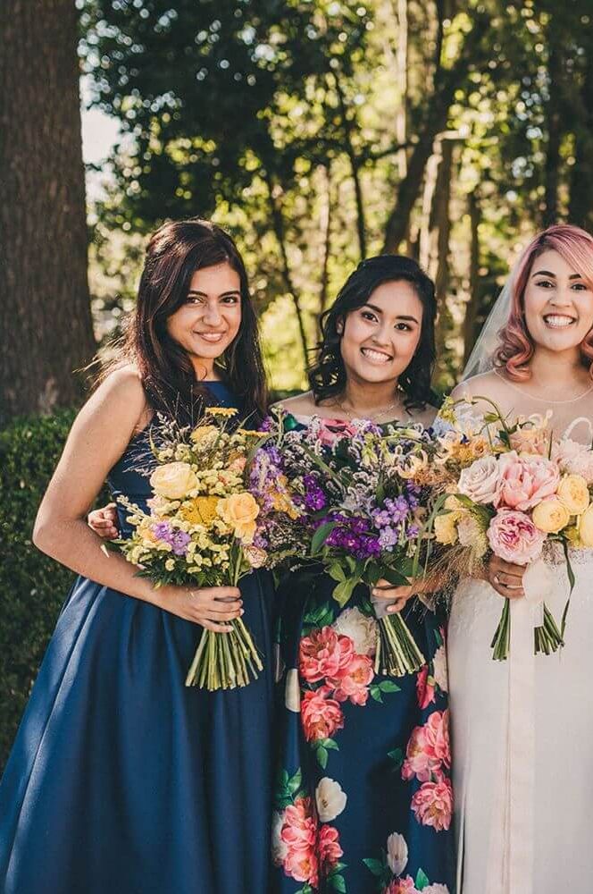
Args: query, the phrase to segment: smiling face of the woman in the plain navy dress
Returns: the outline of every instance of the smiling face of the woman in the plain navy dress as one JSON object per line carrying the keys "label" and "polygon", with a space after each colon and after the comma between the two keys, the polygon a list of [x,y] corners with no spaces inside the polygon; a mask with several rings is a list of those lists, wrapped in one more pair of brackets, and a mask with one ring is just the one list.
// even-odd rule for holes
{"label": "smiling face of the woman in the plain navy dress", "polygon": [[241,281],[228,262],[196,270],[188,298],[167,320],[171,338],[210,375],[241,325]]}

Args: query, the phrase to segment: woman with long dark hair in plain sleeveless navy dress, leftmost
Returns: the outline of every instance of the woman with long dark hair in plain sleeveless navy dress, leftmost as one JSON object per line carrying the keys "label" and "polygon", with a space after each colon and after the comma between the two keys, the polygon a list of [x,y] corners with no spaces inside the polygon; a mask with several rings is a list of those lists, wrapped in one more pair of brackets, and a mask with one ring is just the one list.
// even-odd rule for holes
{"label": "woman with long dark hair in plain sleeveless navy dress, leftmost", "polygon": [[[271,586],[156,589],[85,516],[104,479],[140,506],[155,413],[255,420],[265,384],[246,271],[212,223],[150,240],[114,368],[80,411],[38,512],[39,549],[78,572],[0,786],[4,894],[264,892],[271,798]],[[119,527],[129,531],[125,512]],[[265,654],[249,686],[184,685],[201,628],[245,614]]]}

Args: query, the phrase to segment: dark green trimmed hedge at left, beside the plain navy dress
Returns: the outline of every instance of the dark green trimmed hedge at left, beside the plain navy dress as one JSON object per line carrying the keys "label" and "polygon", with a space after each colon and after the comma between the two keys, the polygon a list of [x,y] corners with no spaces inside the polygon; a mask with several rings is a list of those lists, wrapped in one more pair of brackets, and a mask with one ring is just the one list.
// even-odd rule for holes
{"label": "dark green trimmed hedge at left, beside the plain navy dress", "polygon": [[0,765],[73,580],[31,533],[74,415],[19,419],[0,432]]}

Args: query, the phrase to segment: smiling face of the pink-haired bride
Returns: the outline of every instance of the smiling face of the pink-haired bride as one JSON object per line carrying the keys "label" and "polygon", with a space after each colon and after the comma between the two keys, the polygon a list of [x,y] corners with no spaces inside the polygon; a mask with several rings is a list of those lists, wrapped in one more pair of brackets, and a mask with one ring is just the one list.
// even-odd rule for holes
{"label": "smiling face of the pink-haired bride", "polygon": [[576,351],[593,327],[593,292],[554,249],[534,260],[523,302],[536,347]]}

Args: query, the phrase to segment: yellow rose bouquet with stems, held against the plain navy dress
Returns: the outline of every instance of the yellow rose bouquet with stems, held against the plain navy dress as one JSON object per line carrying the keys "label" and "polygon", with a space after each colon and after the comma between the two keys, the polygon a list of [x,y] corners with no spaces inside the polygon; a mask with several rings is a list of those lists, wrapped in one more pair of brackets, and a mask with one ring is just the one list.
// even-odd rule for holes
{"label": "yellow rose bouquet with stems, held against the plain navy dress", "polygon": [[[237,586],[267,561],[253,545],[259,506],[246,486],[248,454],[262,435],[231,430],[236,412],[211,407],[194,429],[161,420],[152,432],[149,512],[120,498],[133,531],[113,544],[156,586]],[[263,664],[246,624],[230,626],[224,634],[204,629],[186,686],[232,689],[257,678]]]}

